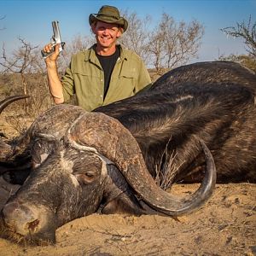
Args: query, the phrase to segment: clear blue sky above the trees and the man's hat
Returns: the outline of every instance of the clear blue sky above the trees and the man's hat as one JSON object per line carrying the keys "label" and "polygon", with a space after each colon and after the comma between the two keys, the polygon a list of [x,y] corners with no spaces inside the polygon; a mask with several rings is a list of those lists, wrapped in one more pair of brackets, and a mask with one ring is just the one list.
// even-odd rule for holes
{"label": "clear blue sky above the trees and the man's hat", "polygon": [[[51,21],[59,20],[63,41],[75,35],[89,35],[88,16],[104,4],[137,12],[140,18],[151,15],[152,25],[166,12],[176,21],[196,19],[205,27],[198,61],[212,61],[218,55],[245,53],[241,39],[227,38],[219,29],[236,22],[256,20],[256,0],[116,0],[116,1],[3,1],[0,0],[0,52],[2,44],[9,51],[20,46],[18,37],[32,45],[43,46],[52,35]],[[3,29],[4,28],[4,29]]]}

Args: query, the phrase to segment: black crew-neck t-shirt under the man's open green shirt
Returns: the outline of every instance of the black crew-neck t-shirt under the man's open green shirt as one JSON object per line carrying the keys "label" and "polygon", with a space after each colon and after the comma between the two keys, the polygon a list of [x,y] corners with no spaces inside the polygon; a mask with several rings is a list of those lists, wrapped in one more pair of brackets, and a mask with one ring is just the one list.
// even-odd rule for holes
{"label": "black crew-neck t-shirt under the man's open green shirt", "polygon": [[99,59],[102,65],[102,69],[104,72],[104,98],[107,95],[111,74],[113,72],[113,67],[116,61],[118,60],[119,55],[120,55],[119,46],[116,47],[116,50],[113,55],[102,56],[102,55],[96,54],[97,58]]}

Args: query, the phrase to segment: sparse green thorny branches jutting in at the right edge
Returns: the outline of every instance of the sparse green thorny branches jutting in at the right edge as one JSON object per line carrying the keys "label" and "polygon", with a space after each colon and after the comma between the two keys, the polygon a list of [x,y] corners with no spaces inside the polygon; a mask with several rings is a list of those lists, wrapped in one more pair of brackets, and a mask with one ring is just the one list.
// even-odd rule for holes
{"label": "sparse green thorny branches jutting in at the right edge", "polygon": [[235,38],[242,38],[247,46],[247,53],[256,58],[256,22],[252,22],[251,16],[247,24],[245,21],[237,22],[236,27],[228,26],[220,30]]}

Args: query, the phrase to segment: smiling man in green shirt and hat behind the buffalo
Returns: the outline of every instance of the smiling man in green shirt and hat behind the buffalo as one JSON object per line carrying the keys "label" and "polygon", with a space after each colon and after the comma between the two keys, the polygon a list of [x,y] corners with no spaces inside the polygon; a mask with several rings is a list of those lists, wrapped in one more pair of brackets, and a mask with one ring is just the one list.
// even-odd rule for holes
{"label": "smiling man in green shirt and hat behind the buffalo", "polygon": [[[49,90],[55,103],[69,102],[76,94],[79,106],[87,111],[133,96],[151,84],[141,58],[117,44],[128,27],[119,10],[104,5],[97,14],[90,15],[89,22],[96,44],[72,56],[62,79],[56,66],[59,46],[45,59]],[[45,52],[50,49],[51,44],[44,46]]]}

